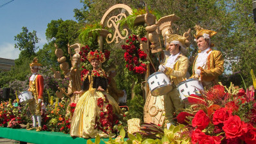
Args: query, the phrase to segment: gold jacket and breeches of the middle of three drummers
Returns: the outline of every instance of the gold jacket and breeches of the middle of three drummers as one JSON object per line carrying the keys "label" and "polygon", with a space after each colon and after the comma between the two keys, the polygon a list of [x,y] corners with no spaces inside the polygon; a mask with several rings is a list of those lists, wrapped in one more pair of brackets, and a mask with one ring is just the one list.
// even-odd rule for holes
{"label": "gold jacket and breeches of the middle of three drummers", "polygon": [[[169,59],[169,58],[168,58]],[[168,59],[164,62],[166,65]],[[164,95],[164,110],[166,123],[175,124],[175,120],[173,120],[173,114],[177,111],[177,109],[184,108],[184,104],[181,102],[179,97],[179,91],[176,86],[186,78],[186,73],[188,71],[188,58],[179,54],[177,59],[175,60],[175,64],[173,68],[166,67],[166,72],[164,72],[167,76],[170,77],[172,81],[173,89],[171,92]],[[177,112],[176,112],[177,114]]]}

